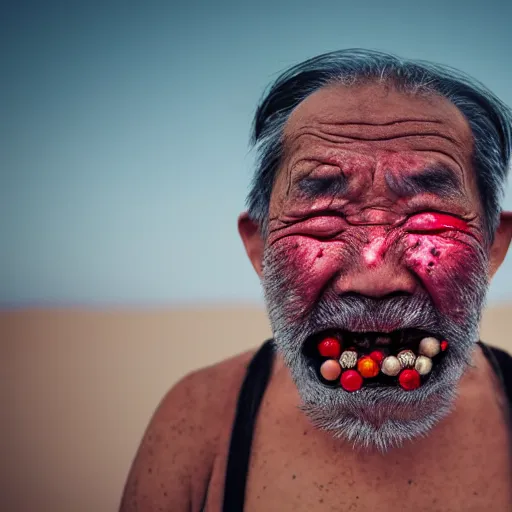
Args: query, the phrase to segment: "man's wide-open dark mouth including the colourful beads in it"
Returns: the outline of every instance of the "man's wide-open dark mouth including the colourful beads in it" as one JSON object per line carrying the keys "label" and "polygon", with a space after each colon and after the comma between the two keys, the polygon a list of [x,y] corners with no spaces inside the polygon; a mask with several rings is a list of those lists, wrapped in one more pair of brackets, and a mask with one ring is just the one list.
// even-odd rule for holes
{"label": "man's wide-open dark mouth including the colourful beads in it", "polygon": [[319,380],[330,387],[400,386],[412,391],[439,368],[448,342],[421,329],[389,333],[322,331],[310,336],[303,354]]}

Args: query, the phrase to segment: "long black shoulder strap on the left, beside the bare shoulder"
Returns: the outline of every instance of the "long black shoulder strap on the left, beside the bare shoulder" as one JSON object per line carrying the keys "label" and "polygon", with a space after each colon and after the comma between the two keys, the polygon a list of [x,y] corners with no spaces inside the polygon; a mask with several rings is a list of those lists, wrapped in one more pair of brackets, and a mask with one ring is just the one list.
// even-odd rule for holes
{"label": "long black shoulder strap on the left, beside the bare shoulder", "polygon": [[273,342],[268,340],[258,350],[247,368],[247,374],[238,395],[235,421],[231,431],[224,482],[223,512],[242,512],[244,509],[254,425],[270,379],[273,362]]}

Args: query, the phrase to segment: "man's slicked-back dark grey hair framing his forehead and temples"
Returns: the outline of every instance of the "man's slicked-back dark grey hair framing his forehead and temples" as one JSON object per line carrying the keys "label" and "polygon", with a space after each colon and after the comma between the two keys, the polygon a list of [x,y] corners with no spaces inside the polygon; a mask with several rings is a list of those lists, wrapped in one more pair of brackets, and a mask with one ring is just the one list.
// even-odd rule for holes
{"label": "man's slicked-back dark grey hair framing his forehead and temples", "polygon": [[249,216],[263,234],[267,231],[272,186],[283,154],[283,128],[292,110],[325,85],[365,81],[390,82],[404,92],[437,93],[464,114],[474,137],[473,163],[484,229],[488,241],[492,241],[511,158],[511,110],[483,84],[461,71],[363,49],[330,52],[291,67],[277,78],[260,102],[251,137],[257,151],[257,168],[247,206]]}

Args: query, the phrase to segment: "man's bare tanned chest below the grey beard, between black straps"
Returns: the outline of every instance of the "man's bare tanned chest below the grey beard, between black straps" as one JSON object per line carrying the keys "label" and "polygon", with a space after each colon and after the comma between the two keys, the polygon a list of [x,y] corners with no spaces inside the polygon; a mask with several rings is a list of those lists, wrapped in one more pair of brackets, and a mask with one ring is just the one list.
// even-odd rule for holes
{"label": "man's bare tanned chest below the grey beard, between black straps", "polygon": [[[245,511],[512,510],[510,440],[500,411],[451,418],[388,454],[356,452],[300,416],[263,415]],[[457,429],[455,429],[457,426]]]}

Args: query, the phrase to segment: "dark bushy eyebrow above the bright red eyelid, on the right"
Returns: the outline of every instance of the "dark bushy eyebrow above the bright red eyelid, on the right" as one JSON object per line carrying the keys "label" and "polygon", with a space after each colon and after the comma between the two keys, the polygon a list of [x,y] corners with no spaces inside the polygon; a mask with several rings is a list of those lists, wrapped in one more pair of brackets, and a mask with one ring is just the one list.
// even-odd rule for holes
{"label": "dark bushy eyebrow above the bright red eyelid, on the right", "polygon": [[460,196],[462,185],[459,177],[448,167],[436,165],[409,175],[385,174],[388,187],[395,194],[410,197],[430,193],[440,197]]}

